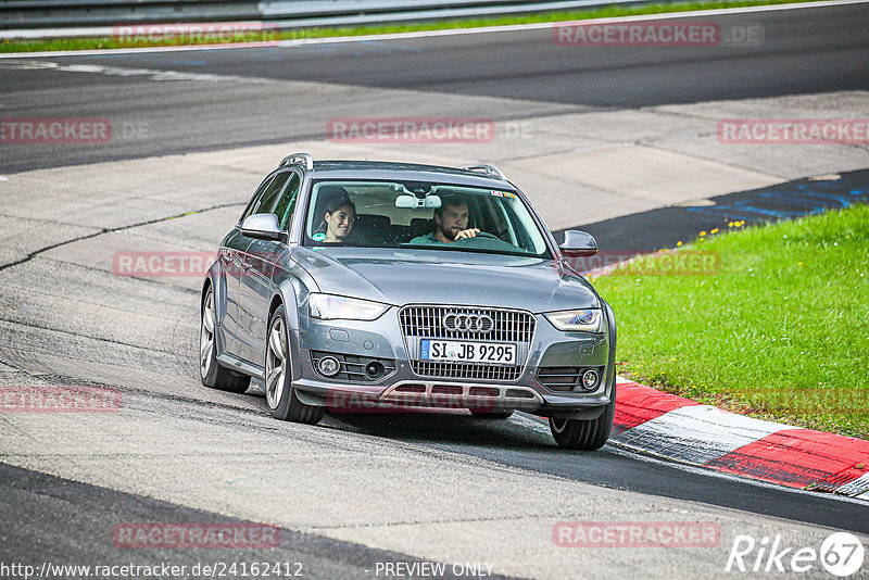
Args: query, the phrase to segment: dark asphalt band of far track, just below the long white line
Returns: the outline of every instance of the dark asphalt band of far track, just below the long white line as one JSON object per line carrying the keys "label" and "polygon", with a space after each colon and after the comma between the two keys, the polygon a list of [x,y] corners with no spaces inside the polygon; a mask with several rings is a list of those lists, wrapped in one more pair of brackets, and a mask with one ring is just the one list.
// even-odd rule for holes
{"label": "dark asphalt band of far track, just below the long white line", "polygon": [[[290,50],[32,59],[28,66],[51,61],[122,71],[49,75],[3,66],[1,115],[34,112],[38,103],[43,116],[74,112],[129,124],[147,122],[149,135],[73,151],[17,147],[4,153],[3,171],[324,138],[326,122],[339,114],[515,119],[589,109],[866,89],[865,4],[807,14],[794,10],[720,17],[722,25],[760,23],[766,41],[759,47],[574,50],[555,46],[552,31],[543,29]],[[126,76],[123,70],[142,73]],[[142,83],[153,78],[148,71],[239,81],[217,78],[219,87],[205,84],[191,92],[184,83]],[[276,81],[316,85],[297,89]],[[387,89],[413,91],[413,99],[390,98]],[[476,99],[459,101],[457,96]],[[496,109],[489,99],[499,99]],[[52,154],[60,152],[64,154]]]}

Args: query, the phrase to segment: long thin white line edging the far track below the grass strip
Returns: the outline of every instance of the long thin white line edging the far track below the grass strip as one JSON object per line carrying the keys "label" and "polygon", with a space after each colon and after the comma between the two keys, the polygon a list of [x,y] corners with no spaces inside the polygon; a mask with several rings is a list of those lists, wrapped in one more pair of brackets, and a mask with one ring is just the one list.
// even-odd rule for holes
{"label": "long thin white line edging the far track below the grass strip", "polygon": [[[243,49],[243,48],[263,48],[263,47],[281,47],[293,48],[303,47],[307,45],[326,45],[339,42],[370,42],[375,40],[404,40],[413,38],[433,38],[439,36],[458,36],[458,35],[473,35],[473,34],[492,34],[492,33],[513,33],[521,30],[540,30],[552,28],[556,24],[607,24],[607,23],[627,23],[627,22],[642,22],[642,21],[662,21],[673,18],[693,18],[702,16],[719,16],[729,14],[752,14],[757,12],[774,12],[783,10],[803,10],[811,8],[828,8],[840,7],[849,4],[865,4],[869,0],[831,0],[822,2],[801,2],[796,4],[776,4],[776,5],[761,5],[761,7],[741,7],[741,8],[725,8],[719,10],[697,10],[694,12],[669,12],[666,14],[642,14],[638,16],[619,16],[608,18],[589,18],[583,21],[566,21],[561,23],[532,23],[532,24],[512,24],[504,26],[481,26],[478,28],[450,28],[444,30],[419,30],[414,33],[393,33],[382,35],[368,35],[368,36],[340,36],[333,38],[301,38],[298,40],[280,40],[277,43],[274,41],[266,42],[229,42],[225,45],[196,45],[186,47],[152,47],[152,48],[130,48],[130,49],[104,49],[104,50],[68,50],[68,51],[43,51],[43,52],[4,52],[0,53],[0,59],[30,59],[30,58],[45,58],[45,56],[91,56],[96,54],[140,54],[149,52],[178,52],[178,51],[197,51],[197,50],[226,50],[226,49]],[[265,23],[268,24],[268,23]]]}

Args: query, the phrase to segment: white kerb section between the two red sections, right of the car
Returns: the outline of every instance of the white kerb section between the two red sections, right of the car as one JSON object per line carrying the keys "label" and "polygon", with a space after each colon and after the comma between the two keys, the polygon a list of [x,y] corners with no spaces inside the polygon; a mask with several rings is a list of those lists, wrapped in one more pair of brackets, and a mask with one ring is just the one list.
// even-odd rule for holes
{"label": "white kerb section between the two red sections, right of the car", "polygon": [[695,405],[670,411],[614,439],[663,457],[703,465],[782,429],[794,427]]}

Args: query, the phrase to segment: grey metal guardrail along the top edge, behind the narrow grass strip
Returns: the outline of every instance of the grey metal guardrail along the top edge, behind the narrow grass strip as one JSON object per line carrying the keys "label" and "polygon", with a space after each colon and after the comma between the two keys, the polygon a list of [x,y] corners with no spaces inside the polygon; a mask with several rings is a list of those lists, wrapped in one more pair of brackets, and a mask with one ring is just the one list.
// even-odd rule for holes
{"label": "grey metal guardrail along the top edge, behind the narrow grass strip", "polygon": [[[0,0],[0,38],[109,36],[119,25],[263,22],[275,28],[418,22],[650,0]],[[667,0],[664,0],[667,1]]]}

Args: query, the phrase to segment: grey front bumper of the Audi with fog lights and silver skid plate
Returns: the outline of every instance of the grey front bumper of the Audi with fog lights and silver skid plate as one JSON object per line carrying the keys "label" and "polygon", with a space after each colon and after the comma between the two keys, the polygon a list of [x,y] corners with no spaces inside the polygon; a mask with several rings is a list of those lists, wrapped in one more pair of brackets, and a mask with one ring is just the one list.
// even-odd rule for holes
{"label": "grey front bumper of the Audi with fog lights and silver skid plate", "polygon": [[[300,312],[300,328],[290,331],[297,355],[293,387],[305,403],[335,411],[376,406],[469,408],[479,412],[518,409],[547,415],[603,407],[609,403],[615,373],[609,356],[608,332],[563,332],[542,315],[526,360],[515,380],[420,376],[408,361],[399,308],[392,307],[374,321],[318,320]],[[330,379],[316,370],[322,353],[353,361],[388,361],[390,371],[368,379],[342,375]],[[593,367],[600,381],[592,391],[579,387],[554,390],[539,380],[541,368]]]}

